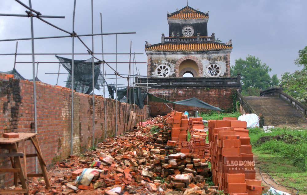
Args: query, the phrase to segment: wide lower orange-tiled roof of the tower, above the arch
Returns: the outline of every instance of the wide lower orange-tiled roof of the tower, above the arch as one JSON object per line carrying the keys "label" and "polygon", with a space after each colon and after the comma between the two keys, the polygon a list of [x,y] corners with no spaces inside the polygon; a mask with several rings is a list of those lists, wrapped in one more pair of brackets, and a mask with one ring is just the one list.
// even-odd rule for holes
{"label": "wide lower orange-tiled roof of the tower, above the arch", "polygon": [[228,50],[232,49],[231,45],[225,43],[184,43],[184,44],[162,44],[158,43],[145,50],[151,51],[210,51],[210,50]]}

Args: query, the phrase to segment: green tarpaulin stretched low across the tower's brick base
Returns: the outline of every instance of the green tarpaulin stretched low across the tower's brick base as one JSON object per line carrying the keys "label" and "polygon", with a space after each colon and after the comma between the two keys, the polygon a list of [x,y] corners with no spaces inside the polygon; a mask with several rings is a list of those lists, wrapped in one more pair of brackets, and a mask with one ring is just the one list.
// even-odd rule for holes
{"label": "green tarpaulin stretched low across the tower's brick base", "polygon": [[222,111],[222,112],[224,111],[224,110],[221,110],[218,107],[207,104],[206,102],[201,101],[200,99],[197,99],[196,97],[192,97],[190,99],[181,100],[181,101],[168,101],[168,100],[162,99],[160,97],[154,96],[153,94],[150,94],[150,93],[147,93],[147,95],[148,95],[148,98],[150,99],[150,101],[163,102],[163,103],[167,103],[167,104],[179,104],[179,105],[186,105],[186,106],[194,106],[194,107],[198,107],[198,108],[218,110],[218,111]]}

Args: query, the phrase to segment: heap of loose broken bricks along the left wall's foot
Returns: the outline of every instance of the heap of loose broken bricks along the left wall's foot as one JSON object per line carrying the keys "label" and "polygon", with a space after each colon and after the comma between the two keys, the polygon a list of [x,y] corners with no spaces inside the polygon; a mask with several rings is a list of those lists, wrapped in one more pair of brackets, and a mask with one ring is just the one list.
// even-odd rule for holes
{"label": "heap of loose broken bricks along the left wall's foot", "polygon": [[[191,154],[187,140],[180,145],[172,141],[170,124],[147,124],[134,132],[107,138],[88,152],[91,160],[84,162],[84,168],[61,180],[66,186],[63,194],[88,190],[102,190],[99,192],[109,195],[217,194],[216,186],[205,183],[211,176],[206,159]],[[155,136],[150,133],[153,125],[162,127]],[[65,166],[63,162],[58,165]]]}

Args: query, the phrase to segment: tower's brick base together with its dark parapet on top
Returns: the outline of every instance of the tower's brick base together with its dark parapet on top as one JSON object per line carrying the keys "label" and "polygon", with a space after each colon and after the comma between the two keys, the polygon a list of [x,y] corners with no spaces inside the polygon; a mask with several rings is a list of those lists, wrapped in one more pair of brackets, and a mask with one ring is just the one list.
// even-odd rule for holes
{"label": "tower's brick base together with its dark parapet on top", "polygon": [[[144,81],[143,81],[144,80]],[[142,78],[142,82],[146,82]],[[149,78],[148,83],[158,83],[159,87],[149,89],[153,94],[169,101],[180,101],[196,97],[208,104],[227,110],[233,108],[233,95],[240,90],[240,77],[218,78]],[[145,100],[146,101],[146,100]],[[169,113],[170,108],[164,103],[149,101],[150,116]],[[208,112],[207,109],[189,107],[177,104],[168,104],[176,111],[188,111],[194,115],[194,111]]]}

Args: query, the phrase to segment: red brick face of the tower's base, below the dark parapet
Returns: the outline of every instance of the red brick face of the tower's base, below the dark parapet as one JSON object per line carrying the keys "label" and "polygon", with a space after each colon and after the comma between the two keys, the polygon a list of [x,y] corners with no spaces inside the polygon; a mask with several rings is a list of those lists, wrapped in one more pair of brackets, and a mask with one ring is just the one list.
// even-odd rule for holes
{"label": "red brick face of the tower's base, below the dark parapet", "polygon": [[[150,93],[153,94],[168,94],[168,95],[157,95],[163,99],[169,101],[180,101],[196,97],[210,105],[220,107],[220,109],[231,109],[233,106],[232,94],[236,92],[236,89],[232,88],[179,88],[174,89],[150,89]],[[179,112],[188,111],[190,114],[194,115],[194,111],[198,112],[208,112],[208,109],[189,107],[178,104],[168,104],[171,108]],[[170,108],[164,103],[149,101],[150,106],[150,116],[164,115],[170,112]]]}

